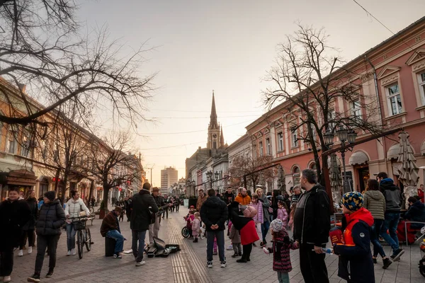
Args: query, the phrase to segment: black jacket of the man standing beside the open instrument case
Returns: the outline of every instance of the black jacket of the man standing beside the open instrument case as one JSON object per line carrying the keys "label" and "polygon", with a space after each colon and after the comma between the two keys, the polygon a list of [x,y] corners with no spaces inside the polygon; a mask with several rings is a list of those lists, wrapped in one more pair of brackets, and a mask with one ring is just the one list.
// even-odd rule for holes
{"label": "black jacket of the man standing beside the open instrument case", "polygon": [[130,229],[135,231],[148,230],[151,221],[150,213],[158,212],[157,202],[148,190],[140,190],[139,193],[133,195],[131,209]]}

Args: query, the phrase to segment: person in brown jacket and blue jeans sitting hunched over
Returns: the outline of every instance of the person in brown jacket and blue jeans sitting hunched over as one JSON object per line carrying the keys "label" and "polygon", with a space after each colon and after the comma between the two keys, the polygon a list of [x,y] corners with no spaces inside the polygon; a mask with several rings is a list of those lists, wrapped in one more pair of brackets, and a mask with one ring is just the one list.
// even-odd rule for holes
{"label": "person in brown jacket and blue jeans sitting hunched over", "polygon": [[115,250],[113,258],[120,260],[121,253],[123,252],[125,238],[121,234],[120,222],[118,221],[118,215],[123,212],[122,207],[115,207],[111,212],[106,214],[102,220],[101,235],[102,237],[113,238],[115,240]]}

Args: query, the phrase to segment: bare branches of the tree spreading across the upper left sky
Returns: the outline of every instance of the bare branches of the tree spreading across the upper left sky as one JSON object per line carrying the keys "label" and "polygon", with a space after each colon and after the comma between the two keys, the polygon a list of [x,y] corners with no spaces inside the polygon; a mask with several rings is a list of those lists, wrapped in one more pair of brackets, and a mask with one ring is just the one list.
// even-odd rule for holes
{"label": "bare branches of the tree spreading across the upper left sky", "polygon": [[140,76],[145,50],[122,50],[106,28],[82,35],[76,9],[73,0],[0,1],[0,96],[9,105],[0,122],[45,125],[42,115],[69,100],[144,119],[153,78]]}

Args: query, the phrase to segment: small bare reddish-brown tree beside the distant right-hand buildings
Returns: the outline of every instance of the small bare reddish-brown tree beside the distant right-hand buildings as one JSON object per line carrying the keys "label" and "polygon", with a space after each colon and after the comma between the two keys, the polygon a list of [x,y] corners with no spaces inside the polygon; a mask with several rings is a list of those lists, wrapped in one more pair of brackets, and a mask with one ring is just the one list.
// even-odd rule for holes
{"label": "small bare reddish-brown tree beside the distant right-hand buildings", "polygon": [[230,174],[230,185],[232,187],[240,186],[246,176],[246,183],[251,187],[259,185],[261,174],[265,180],[273,178],[273,168],[265,169],[261,172],[261,168],[264,168],[271,164],[273,157],[270,155],[253,157],[251,154],[239,154],[232,158],[232,166],[229,167],[228,173]]}

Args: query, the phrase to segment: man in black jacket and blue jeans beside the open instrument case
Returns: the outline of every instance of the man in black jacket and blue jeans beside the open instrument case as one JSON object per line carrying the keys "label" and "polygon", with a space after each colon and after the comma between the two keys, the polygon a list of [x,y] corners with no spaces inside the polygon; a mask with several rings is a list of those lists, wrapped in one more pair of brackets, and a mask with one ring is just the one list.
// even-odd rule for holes
{"label": "man in black jacket and blue jeans beside the open instrument case", "polygon": [[[132,212],[130,217],[130,229],[132,231],[132,253],[136,259],[136,266],[145,264],[143,261],[143,249],[145,248],[146,231],[151,222],[150,212],[158,212],[154,197],[149,194],[150,184],[143,184],[142,190],[132,197]],[[150,211],[149,211],[150,207]],[[139,247],[137,248],[137,242]]]}

